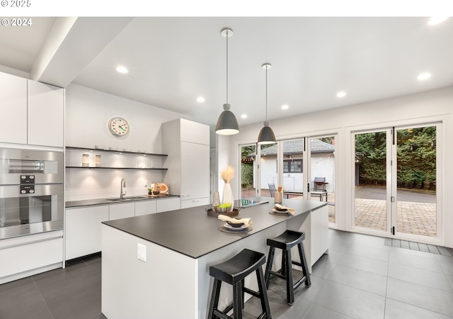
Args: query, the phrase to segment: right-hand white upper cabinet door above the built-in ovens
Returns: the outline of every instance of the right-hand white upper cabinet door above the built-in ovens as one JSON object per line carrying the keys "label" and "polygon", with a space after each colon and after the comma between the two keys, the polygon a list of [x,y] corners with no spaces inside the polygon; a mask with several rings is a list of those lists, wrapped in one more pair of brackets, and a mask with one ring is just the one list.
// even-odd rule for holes
{"label": "right-hand white upper cabinet door above the built-in ovens", "polygon": [[28,144],[63,147],[64,89],[28,80]]}

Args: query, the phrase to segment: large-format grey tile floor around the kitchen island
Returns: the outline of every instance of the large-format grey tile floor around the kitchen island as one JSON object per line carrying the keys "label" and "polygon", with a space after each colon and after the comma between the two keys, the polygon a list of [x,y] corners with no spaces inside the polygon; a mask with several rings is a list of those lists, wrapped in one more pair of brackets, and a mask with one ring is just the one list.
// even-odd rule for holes
{"label": "large-format grey tile floor around the kitchen island", "polygon": [[[329,241],[329,254],[313,267],[311,287],[297,289],[293,306],[285,303],[282,279],[272,281],[274,319],[453,318],[453,250],[452,256],[408,250],[338,230],[329,230]],[[255,318],[258,299],[244,310],[244,319]],[[101,257],[0,285],[0,318],[105,319]]]}

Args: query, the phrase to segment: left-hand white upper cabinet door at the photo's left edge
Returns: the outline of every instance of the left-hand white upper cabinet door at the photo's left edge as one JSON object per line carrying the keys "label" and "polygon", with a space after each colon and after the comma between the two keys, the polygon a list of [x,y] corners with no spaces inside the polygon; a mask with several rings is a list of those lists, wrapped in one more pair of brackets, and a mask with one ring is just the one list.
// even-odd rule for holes
{"label": "left-hand white upper cabinet door at the photo's left edge", "polygon": [[0,72],[0,118],[0,142],[27,143],[27,79]]}

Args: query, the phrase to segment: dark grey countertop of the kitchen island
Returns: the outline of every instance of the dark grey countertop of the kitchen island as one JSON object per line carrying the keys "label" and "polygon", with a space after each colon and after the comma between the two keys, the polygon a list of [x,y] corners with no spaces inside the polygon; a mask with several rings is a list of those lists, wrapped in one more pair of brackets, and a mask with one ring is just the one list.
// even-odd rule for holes
{"label": "dark grey countertop of the kitchen island", "polygon": [[282,205],[294,208],[294,216],[275,216],[269,213],[274,206],[274,198],[265,199],[269,200],[269,203],[242,208],[239,216],[235,216],[252,218],[253,230],[248,233],[233,234],[220,231],[218,228],[224,222],[217,217],[207,216],[205,208],[210,206],[110,220],[103,224],[196,259],[274,225],[284,223],[289,218],[327,205],[326,202],[321,201],[284,199]]}

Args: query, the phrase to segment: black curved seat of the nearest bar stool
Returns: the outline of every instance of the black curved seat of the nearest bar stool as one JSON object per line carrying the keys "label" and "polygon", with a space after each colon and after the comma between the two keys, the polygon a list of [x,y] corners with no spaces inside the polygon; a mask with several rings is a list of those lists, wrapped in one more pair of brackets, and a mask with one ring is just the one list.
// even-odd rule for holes
{"label": "black curved seat of the nearest bar stool", "polygon": [[234,285],[262,266],[265,261],[265,254],[243,250],[226,262],[210,267],[210,275]]}

